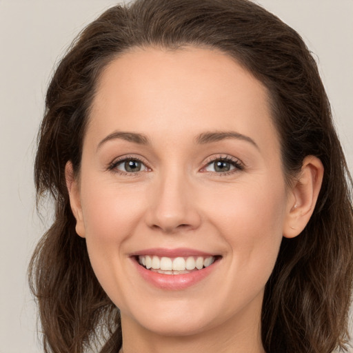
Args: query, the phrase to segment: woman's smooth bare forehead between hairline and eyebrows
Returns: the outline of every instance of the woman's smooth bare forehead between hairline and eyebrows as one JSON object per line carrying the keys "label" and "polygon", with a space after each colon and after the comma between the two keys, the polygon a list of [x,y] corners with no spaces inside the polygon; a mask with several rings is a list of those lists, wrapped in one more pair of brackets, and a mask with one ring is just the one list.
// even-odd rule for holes
{"label": "woman's smooth bare forehead between hairline and eyebrows", "polygon": [[134,48],[107,65],[88,133],[103,139],[114,129],[171,139],[201,130],[236,130],[259,143],[276,134],[265,86],[232,57],[195,47]]}

